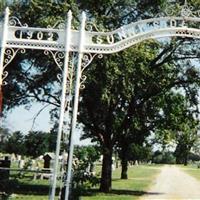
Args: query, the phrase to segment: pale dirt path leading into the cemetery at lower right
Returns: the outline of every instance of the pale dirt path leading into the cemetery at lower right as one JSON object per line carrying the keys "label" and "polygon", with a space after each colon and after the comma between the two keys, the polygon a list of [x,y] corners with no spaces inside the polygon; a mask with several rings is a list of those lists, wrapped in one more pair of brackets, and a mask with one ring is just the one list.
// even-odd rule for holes
{"label": "pale dirt path leading into the cemetery at lower right", "polygon": [[200,200],[200,182],[175,166],[164,166],[148,193],[142,200]]}

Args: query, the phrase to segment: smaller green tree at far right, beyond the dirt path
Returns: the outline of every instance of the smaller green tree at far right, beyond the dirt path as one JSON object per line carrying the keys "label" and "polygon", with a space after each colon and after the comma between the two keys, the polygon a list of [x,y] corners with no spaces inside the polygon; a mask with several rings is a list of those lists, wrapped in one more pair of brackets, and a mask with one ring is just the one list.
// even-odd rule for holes
{"label": "smaller green tree at far right, beyond the dirt path", "polygon": [[187,94],[181,90],[182,94],[176,91],[165,96],[168,104],[163,102],[165,105],[161,111],[161,123],[155,130],[154,139],[156,143],[161,144],[163,151],[170,143],[177,144],[175,151],[177,163],[187,164],[189,152],[198,140],[197,88],[195,92],[194,88],[188,88]]}

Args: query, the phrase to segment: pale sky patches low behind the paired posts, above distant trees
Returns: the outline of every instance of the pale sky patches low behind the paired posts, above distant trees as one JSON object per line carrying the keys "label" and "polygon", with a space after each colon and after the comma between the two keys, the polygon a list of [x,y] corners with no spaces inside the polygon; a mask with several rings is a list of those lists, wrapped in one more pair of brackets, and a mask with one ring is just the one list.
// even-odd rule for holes
{"label": "pale sky patches low behind the paired posts, above distant trees", "polygon": [[[27,110],[24,106],[17,107],[10,111],[4,121],[4,125],[11,130],[21,131],[27,134],[30,130],[33,131],[50,131],[53,124],[50,121],[49,108],[44,109],[36,118],[33,125],[34,117],[43,108],[39,103],[34,103],[32,107]],[[81,130],[77,130],[74,142],[79,145],[90,144],[90,140],[80,141]]]}

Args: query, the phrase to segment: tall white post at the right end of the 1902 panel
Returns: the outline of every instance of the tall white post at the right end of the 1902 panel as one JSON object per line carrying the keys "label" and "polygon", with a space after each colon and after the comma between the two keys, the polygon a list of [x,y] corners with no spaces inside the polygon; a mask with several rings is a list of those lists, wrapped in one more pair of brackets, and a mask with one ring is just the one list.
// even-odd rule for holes
{"label": "tall white post at the right end of the 1902 panel", "polygon": [[50,200],[54,200],[55,194],[56,194],[58,161],[59,161],[59,154],[60,154],[60,144],[61,144],[61,136],[62,136],[62,130],[63,130],[64,113],[65,113],[69,51],[70,51],[70,41],[71,41],[71,21],[72,21],[72,12],[69,11],[67,14],[67,24],[66,24],[66,28],[65,28],[65,31],[66,31],[65,60],[64,60],[64,69],[63,69],[63,73],[62,73],[63,80],[62,80],[60,116],[59,116],[59,126],[58,126],[57,142],[56,142],[56,155],[55,155],[54,169],[53,169],[52,188],[51,188],[51,193],[50,193],[50,197],[49,197]]}

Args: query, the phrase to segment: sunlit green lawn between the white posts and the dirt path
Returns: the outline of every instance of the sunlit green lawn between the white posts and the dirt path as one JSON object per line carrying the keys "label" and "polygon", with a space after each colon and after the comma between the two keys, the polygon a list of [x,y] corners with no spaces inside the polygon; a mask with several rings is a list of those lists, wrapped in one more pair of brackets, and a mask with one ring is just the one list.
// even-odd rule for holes
{"label": "sunlit green lawn between the white posts and the dirt path", "polygon": [[83,200],[136,200],[144,195],[159,173],[159,166],[133,166],[129,168],[128,180],[121,180],[120,169],[113,172],[112,191],[109,194],[91,191]]}

